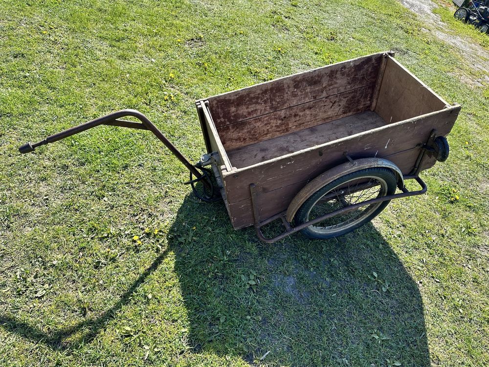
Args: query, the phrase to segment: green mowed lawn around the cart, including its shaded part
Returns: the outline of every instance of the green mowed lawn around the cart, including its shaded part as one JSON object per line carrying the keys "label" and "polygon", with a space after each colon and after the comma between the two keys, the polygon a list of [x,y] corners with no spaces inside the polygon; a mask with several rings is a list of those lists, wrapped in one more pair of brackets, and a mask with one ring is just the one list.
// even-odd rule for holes
{"label": "green mowed lawn around the cart, including its shaded part", "polygon": [[[398,2],[9,0],[0,14],[1,366],[489,365],[487,73]],[[388,49],[463,110],[428,194],[338,239],[233,230],[147,132],[17,151],[134,108],[196,161],[195,100]]]}

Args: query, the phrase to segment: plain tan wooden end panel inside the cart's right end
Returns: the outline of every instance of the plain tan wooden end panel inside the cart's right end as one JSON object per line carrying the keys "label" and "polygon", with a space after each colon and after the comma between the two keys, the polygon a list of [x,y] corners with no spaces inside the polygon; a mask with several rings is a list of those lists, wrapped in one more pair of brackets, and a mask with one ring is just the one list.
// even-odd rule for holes
{"label": "plain tan wooden end panel inside the cart's right end", "polygon": [[375,112],[387,123],[394,123],[433,111],[447,103],[417,77],[388,57]]}

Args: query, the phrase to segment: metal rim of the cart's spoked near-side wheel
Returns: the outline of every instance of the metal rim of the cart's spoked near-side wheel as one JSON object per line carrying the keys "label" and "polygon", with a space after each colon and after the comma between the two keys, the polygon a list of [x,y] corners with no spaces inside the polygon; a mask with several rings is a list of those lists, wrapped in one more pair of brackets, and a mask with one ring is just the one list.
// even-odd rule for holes
{"label": "metal rim of the cart's spoked near-side wheel", "polygon": [[[325,197],[326,195],[328,195],[329,193],[333,192],[335,189],[339,188],[339,187],[342,187],[344,186],[345,184],[348,184],[349,182],[352,182],[352,181],[357,181],[357,180],[361,180],[361,179],[375,179],[378,181],[378,183],[380,184],[380,188],[379,188],[379,192],[378,192],[378,196],[385,196],[387,195],[387,183],[385,182],[384,179],[380,178],[380,177],[374,177],[374,176],[369,176],[369,175],[366,175],[366,176],[361,176],[361,177],[355,177],[351,180],[348,180],[344,183],[341,183],[341,184],[338,184],[336,186],[334,186],[331,190],[329,190],[328,192],[326,192],[324,195],[322,195],[319,199],[317,199],[314,204],[311,206],[311,208],[309,209],[309,211],[307,212],[307,220],[310,220],[310,214],[311,214],[311,210],[314,208],[314,206],[316,206],[316,204],[323,198]],[[356,192],[354,192],[356,193]],[[372,198],[370,198],[372,199]],[[368,200],[368,199],[367,199]],[[350,229],[354,226],[356,226],[358,223],[360,223],[362,220],[364,220],[366,217],[368,217],[369,215],[371,215],[375,210],[377,210],[377,208],[382,205],[383,202],[379,202],[377,204],[372,204],[370,205],[366,210],[362,211],[358,216],[356,216],[355,218],[351,219],[351,220],[347,220],[345,222],[341,222],[341,223],[338,223],[338,224],[334,224],[334,225],[331,225],[331,226],[326,226],[326,227],[316,227],[314,225],[311,225],[308,227],[308,229],[311,231],[311,232],[314,232],[314,233],[317,233],[317,234],[321,234],[321,235],[324,235],[324,234],[331,234],[331,233],[334,233],[334,232],[337,232],[339,230],[345,230],[345,229]],[[362,206],[363,207],[363,206]],[[356,212],[357,210],[354,210],[353,212]],[[351,213],[351,212],[349,212]],[[326,214],[326,213],[323,213],[323,214]],[[333,218],[336,218],[337,216],[334,216]],[[332,218],[332,219],[333,219]],[[346,224],[344,224],[346,223]]]}

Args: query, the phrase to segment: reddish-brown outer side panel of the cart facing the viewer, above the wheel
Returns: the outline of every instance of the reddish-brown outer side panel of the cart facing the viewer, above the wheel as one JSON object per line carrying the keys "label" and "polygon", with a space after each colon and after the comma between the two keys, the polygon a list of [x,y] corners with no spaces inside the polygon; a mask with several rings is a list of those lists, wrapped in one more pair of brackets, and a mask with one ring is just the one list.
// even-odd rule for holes
{"label": "reddish-brown outer side panel of the cart facing the viewer, above the wheel", "polygon": [[[454,106],[262,164],[238,169],[232,175],[224,175],[224,186],[233,227],[243,228],[253,224],[250,184],[256,184],[263,193],[289,187],[289,189],[273,194],[276,199],[266,198],[262,201],[263,215],[275,214],[287,208],[293,196],[307,181],[344,161],[344,152],[348,152],[353,158],[385,158],[410,150],[417,144],[424,143],[432,129],[437,129],[438,135],[447,135],[453,127],[459,111],[460,106]],[[408,173],[414,161],[412,157],[409,161],[407,158],[406,161],[404,158],[399,158],[395,163],[405,170],[403,173]]]}

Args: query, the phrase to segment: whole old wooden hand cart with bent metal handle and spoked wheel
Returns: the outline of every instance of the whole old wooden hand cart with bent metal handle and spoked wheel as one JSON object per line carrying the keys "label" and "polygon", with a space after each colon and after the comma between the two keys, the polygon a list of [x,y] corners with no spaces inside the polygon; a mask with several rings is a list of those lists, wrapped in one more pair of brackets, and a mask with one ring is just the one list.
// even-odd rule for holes
{"label": "whole old wooden hand cart with bent metal handle and spoked wheel", "polygon": [[[275,242],[332,238],[392,199],[420,195],[422,170],[448,157],[460,112],[394,58],[376,53],[196,102],[207,153],[191,164],[143,114],[114,112],[26,143],[21,153],[99,125],[150,130],[190,171],[196,195],[222,199],[232,226]],[[140,122],[124,120],[133,116]],[[409,191],[404,182],[420,189]],[[396,193],[396,190],[400,191]],[[279,221],[273,237],[262,228]]]}

